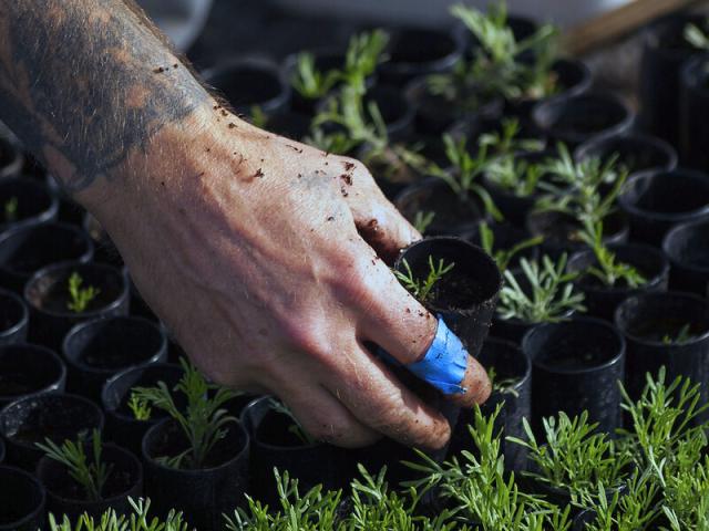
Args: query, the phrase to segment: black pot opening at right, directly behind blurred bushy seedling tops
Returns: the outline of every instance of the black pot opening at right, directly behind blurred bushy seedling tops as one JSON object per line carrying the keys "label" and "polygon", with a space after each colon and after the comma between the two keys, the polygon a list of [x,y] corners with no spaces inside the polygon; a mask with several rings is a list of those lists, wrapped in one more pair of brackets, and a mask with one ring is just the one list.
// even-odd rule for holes
{"label": "black pot opening at right, directly behind blurred bushy seedling tops", "polygon": [[617,156],[617,164],[628,173],[677,167],[677,152],[667,142],[643,134],[610,135],[592,138],[574,153],[576,160],[598,157],[603,163]]}

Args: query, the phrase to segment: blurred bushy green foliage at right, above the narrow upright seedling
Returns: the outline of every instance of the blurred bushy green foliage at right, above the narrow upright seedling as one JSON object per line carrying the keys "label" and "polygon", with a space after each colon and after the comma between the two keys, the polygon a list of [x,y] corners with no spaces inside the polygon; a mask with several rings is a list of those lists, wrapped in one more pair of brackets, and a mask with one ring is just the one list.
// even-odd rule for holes
{"label": "blurred bushy green foliage at right, above the narrow upright seedling", "polygon": [[[559,144],[557,149],[558,158],[545,166],[549,180],[540,184],[545,194],[538,199],[536,211],[565,214],[580,227],[603,222],[615,211],[627,170],[617,167],[617,157],[606,163],[597,157],[575,163],[565,145]],[[606,194],[602,192],[604,186],[609,187]]]}

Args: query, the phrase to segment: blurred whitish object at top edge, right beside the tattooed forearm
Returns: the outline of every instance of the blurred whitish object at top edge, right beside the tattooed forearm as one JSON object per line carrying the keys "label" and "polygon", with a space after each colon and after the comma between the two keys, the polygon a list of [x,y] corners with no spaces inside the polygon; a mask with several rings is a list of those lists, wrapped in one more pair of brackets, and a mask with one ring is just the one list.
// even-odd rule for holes
{"label": "blurred whitish object at top edge, right beside the tattooed forearm", "polygon": [[212,0],[137,0],[177,50],[186,51],[204,29]]}

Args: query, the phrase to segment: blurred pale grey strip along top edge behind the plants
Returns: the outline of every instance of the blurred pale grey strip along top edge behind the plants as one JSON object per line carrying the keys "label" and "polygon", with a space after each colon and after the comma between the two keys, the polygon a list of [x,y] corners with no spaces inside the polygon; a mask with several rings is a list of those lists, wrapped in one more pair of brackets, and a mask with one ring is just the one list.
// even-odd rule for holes
{"label": "blurred pale grey strip along top edge behind the plants", "polygon": [[[390,23],[434,25],[450,23],[449,8],[461,0],[275,0],[282,7],[319,14],[354,17]],[[510,12],[535,20],[574,25],[596,14],[638,0],[507,0]],[[463,0],[484,8],[490,1]]]}

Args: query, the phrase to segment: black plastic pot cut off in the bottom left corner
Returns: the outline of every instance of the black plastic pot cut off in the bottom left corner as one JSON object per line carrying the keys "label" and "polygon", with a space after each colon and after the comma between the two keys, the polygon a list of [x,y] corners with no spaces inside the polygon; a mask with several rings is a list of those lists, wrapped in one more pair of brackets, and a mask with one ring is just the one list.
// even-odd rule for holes
{"label": "black plastic pot cut off in the bottom left corner", "polygon": [[44,487],[30,473],[0,467],[0,531],[37,531],[44,527]]}

